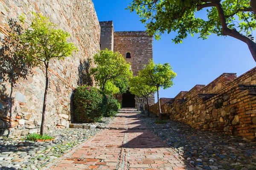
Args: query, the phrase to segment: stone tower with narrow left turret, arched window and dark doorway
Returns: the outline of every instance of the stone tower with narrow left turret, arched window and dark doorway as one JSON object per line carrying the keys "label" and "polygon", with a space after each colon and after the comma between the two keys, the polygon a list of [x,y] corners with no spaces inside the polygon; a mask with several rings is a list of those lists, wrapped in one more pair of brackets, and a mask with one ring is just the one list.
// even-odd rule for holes
{"label": "stone tower with narrow left turret, arched window and dark doorway", "polygon": [[[153,59],[152,41],[146,31],[114,31],[113,21],[99,22],[101,26],[101,50],[108,48],[119,51],[126,62],[131,63],[131,71],[137,76],[138,71]],[[122,108],[138,108],[134,95],[127,91],[118,96]],[[149,105],[154,104],[154,94],[149,99]]]}

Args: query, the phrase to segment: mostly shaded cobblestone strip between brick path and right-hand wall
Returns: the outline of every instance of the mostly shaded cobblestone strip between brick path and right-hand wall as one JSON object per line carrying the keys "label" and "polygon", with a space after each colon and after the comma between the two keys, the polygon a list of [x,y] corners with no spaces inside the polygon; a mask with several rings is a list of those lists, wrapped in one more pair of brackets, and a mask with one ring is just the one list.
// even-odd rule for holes
{"label": "mostly shaded cobblestone strip between brick path and right-hand wall", "polygon": [[256,142],[247,143],[239,137],[195,130],[170,120],[166,124],[154,124],[157,118],[142,120],[148,127],[167,128],[151,130],[198,170],[256,170]]}

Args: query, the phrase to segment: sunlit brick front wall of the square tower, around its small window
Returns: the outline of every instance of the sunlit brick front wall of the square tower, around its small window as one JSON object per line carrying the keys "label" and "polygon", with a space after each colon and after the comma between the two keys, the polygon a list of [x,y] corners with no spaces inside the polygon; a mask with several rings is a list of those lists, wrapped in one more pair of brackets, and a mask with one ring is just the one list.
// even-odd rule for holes
{"label": "sunlit brick front wall of the square tower, around its small window", "polygon": [[[134,76],[144,68],[144,65],[153,59],[153,37],[146,31],[116,31],[114,33],[114,51],[119,51],[126,62],[131,63]],[[126,58],[126,52],[131,53],[131,58]],[[138,108],[137,100],[135,101]],[[154,94],[149,98],[149,105],[154,104]]]}

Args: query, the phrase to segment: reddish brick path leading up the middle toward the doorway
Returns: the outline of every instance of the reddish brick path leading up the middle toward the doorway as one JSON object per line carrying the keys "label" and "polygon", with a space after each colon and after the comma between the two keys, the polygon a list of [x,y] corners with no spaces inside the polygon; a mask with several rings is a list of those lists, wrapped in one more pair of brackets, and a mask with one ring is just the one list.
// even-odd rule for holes
{"label": "reddish brick path leading up the middle toward the doorway", "polygon": [[[120,113],[121,114],[121,113]],[[134,113],[122,113],[129,116]],[[110,127],[57,159],[51,170],[185,170],[182,159],[152,134],[139,118],[116,117]],[[140,128],[138,128],[140,127]]]}

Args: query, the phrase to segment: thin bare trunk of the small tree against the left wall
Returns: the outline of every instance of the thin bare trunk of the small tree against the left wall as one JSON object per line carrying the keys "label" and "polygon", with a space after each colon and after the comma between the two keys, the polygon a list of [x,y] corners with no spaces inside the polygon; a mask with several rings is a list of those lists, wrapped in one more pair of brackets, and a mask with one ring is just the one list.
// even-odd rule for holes
{"label": "thin bare trunk of the small tree against the left wall", "polygon": [[47,101],[47,93],[48,93],[48,85],[49,85],[49,77],[48,77],[48,68],[49,68],[49,62],[44,62],[45,70],[46,70],[46,81],[45,81],[45,91],[44,91],[44,105],[43,105],[43,112],[42,112],[42,122],[41,122],[41,128],[40,128],[40,134],[44,135],[45,128],[44,128],[44,120],[45,120],[45,110],[46,110],[46,101]]}

